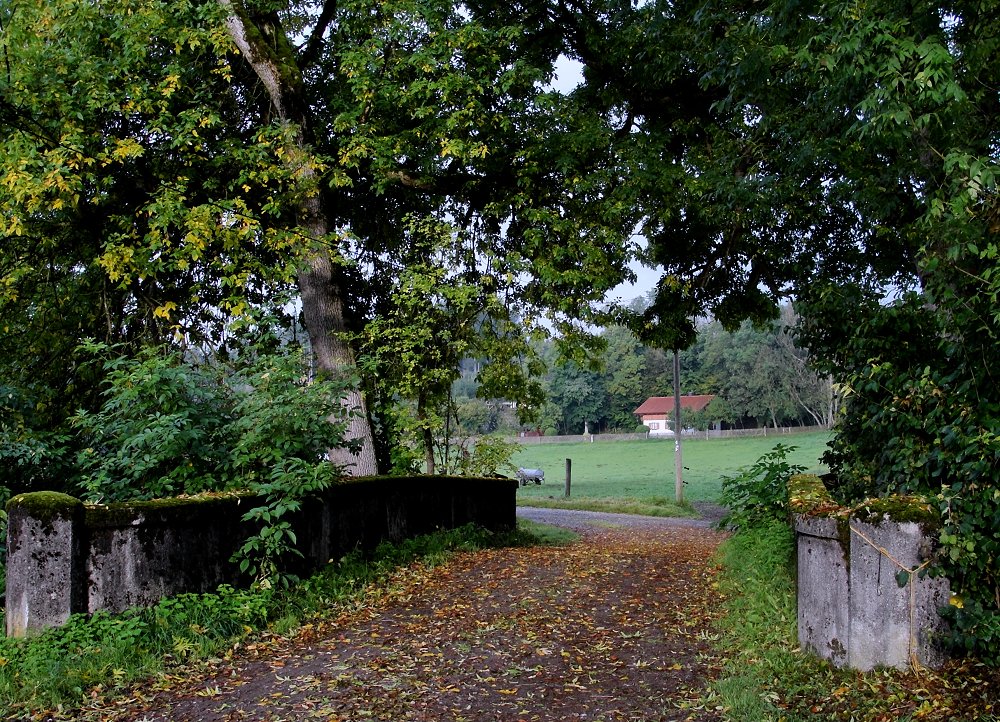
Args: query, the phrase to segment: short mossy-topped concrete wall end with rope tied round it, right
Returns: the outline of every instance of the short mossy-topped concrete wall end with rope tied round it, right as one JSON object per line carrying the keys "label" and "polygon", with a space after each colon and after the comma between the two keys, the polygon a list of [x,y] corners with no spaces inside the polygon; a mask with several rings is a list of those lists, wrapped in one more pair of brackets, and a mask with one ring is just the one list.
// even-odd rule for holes
{"label": "short mossy-topped concrete wall end with rope tied round it, right", "polygon": [[802,648],[861,671],[940,666],[938,609],[948,603],[949,584],[921,574],[935,546],[933,506],[888,497],[844,509],[806,474],[792,477],[790,492]]}

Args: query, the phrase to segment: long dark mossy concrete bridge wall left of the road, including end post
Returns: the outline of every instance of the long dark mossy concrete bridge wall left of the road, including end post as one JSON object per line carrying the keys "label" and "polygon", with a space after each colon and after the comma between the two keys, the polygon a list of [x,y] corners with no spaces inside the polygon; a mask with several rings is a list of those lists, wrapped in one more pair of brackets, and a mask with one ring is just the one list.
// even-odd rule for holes
{"label": "long dark mossy concrete bridge wall left of the road, including end post", "polygon": [[[355,549],[477,523],[511,529],[517,482],[461,477],[350,479],[292,518],[303,559],[320,568]],[[241,584],[230,561],[260,505],[227,494],[111,505],[40,492],[8,504],[7,634],[59,626],[74,613],[149,606],[182,592]]]}

